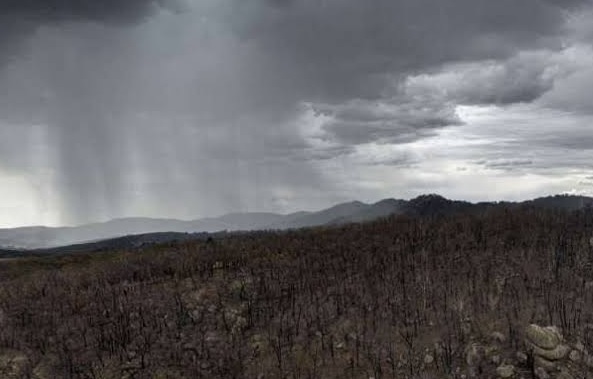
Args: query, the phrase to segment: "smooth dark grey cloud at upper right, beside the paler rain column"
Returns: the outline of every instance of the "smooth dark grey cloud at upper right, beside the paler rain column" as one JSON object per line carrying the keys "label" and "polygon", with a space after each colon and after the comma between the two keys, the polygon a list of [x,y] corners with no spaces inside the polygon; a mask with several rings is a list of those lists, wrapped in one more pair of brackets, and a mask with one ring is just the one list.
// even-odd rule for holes
{"label": "smooth dark grey cloud at upper right, beside the paler rain column", "polygon": [[584,3],[264,1],[238,7],[237,30],[273,56],[309,100],[340,101],[380,97],[389,78],[446,62],[559,47],[564,11]]}

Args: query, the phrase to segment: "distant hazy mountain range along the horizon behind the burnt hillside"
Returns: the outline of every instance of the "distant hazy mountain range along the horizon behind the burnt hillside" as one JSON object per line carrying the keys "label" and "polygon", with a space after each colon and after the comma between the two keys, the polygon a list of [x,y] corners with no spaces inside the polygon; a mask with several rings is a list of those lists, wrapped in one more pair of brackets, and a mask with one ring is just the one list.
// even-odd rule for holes
{"label": "distant hazy mountain range along the horizon behind the burnt hillside", "polygon": [[[392,214],[411,216],[446,215],[483,210],[496,206],[531,205],[541,208],[577,210],[593,206],[593,198],[572,195],[542,197],[524,202],[470,203],[448,200],[439,195],[422,195],[412,200],[385,199],[374,204],[360,201],[342,203],[318,212],[231,213],[192,221],[157,218],[123,218],[75,227],[23,227],[0,229],[0,249],[48,249],[58,246],[92,243],[110,246],[105,241],[118,238],[117,246],[203,237],[204,233],[221,231],[281,230],[321,225],[364,222]],[[202,233],[196,235],[194,233]],[[142,235],[121,239],[129,235]],[[90,245],[89,245],[90,246]],[[2,251],[0,250],[0,253]]]}

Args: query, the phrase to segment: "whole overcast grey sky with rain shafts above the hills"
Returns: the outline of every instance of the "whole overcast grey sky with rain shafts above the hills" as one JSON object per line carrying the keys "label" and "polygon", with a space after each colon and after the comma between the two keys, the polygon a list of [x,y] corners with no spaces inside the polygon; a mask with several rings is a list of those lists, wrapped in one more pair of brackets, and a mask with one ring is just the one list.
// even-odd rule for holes
{"label": "whole overcast grey sky with rain shafts above the hills", "polygon": [[0,0],[0,227],[593,195],[591,20],[591,0]]}

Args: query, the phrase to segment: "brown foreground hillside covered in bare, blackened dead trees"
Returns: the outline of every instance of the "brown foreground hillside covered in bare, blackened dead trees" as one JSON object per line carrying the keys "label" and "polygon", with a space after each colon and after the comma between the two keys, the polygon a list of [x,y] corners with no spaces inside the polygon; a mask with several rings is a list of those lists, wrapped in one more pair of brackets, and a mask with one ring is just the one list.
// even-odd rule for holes
{"label": "brown foreground hillside covered in bare, blackened dead trees", "polygon": [[1,262],[0,377],[530,378],[529,324],[593,351],[592,228],[500,208]]}

